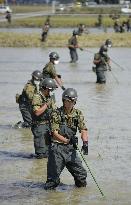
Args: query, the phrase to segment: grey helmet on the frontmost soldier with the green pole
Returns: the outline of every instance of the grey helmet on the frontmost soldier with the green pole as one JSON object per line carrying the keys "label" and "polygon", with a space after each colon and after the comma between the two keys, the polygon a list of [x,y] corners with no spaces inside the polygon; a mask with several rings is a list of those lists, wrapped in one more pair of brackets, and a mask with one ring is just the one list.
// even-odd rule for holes
{"label": "grey helmet on the frontmost soldier with the green pole", "polygon": [[62,100],[77,101],[77,92],[73,88],[67,88],[62,94]]}

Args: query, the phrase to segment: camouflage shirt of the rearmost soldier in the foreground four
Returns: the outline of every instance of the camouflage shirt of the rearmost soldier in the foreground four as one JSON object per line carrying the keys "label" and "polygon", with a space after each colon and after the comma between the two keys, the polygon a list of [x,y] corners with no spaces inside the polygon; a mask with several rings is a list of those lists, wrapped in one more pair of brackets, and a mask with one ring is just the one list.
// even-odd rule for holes
{"label": "camouflage shirt of the rearmost soldier in the foreground four", "polygon": [[49,62],[43,68],[43,78],[55,78],[57,76],[55,66],[52,62]]}

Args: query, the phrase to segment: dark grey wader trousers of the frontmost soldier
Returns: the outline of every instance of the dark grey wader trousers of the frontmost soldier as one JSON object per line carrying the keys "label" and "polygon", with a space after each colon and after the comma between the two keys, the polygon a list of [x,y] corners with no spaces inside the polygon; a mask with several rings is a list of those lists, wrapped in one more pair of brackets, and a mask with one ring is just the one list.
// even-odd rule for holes
{"label": "dark grey wader trousers of the frontmost soldier", "polygon": [[66,167],[74,177],[77,187],[86,186],[87,172],[82,166],[73,145],[52,143],[49,146],[49,156],[47,164],[47,182],[45,189],[53,189],[60,183],[60,174]]}

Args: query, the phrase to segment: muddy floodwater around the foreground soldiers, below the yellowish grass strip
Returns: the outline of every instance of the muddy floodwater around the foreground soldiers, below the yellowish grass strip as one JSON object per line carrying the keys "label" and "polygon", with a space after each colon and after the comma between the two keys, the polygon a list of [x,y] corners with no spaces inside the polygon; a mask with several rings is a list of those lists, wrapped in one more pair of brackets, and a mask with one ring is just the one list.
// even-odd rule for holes
{"label": "muddy floodwater around the foreground soldiers, below the yellowish grass strip", "polygon": [[[83,111],[89,129],[85,160],[105,198],[89,171],[86,188],[75,188],[65,169],[62,184],[55,191],[45,191],[47,160],[32,157],[30,130],[13,128],[21,120],[15,94],[22,91],[34,70],[42,70],[51,51],[60,55],[56,69],[65,87],[78,91],[76,107]],[[131,204],[131,48],[109,50],[112,60],[122,67],[112,63],[106,85],[97,85],[91,70],[98,48],[89,51],[78,51],[79,62],[70,64],[68,49],[0,48],[0,205]],[[58,105],[62,104],[61,94],[58,88]]]}

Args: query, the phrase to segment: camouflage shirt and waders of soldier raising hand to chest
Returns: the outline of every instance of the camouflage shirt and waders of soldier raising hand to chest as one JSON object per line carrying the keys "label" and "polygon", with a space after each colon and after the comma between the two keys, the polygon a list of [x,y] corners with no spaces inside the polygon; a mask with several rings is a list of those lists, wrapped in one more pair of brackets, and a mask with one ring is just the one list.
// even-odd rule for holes
{"label": "camouflage shirt and waders of soldier raising hand to chest", "polygon": [[[50,106],[40,115],[36,116],[34,112],[43,104],[50,102]],[[35,154],[43,154],[47,156],[48,145],[50,143],[50,114],[53,109],[56,109],[54,99],[49,96],[45,97],[41,92],[35,94],[32,100],[33,115],[32,115],[32,133],[34,135]]]}

